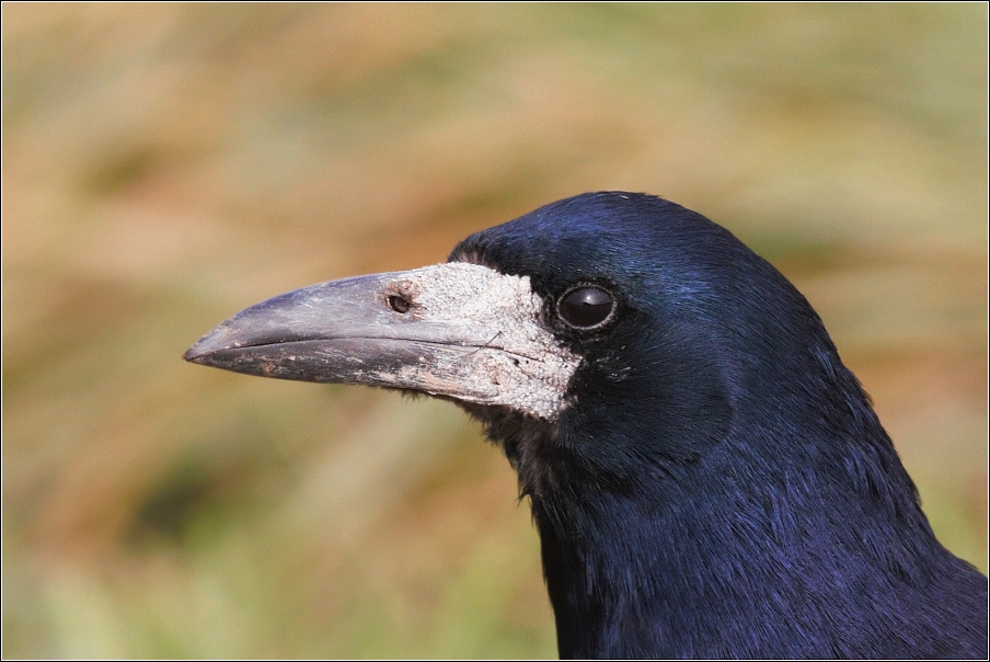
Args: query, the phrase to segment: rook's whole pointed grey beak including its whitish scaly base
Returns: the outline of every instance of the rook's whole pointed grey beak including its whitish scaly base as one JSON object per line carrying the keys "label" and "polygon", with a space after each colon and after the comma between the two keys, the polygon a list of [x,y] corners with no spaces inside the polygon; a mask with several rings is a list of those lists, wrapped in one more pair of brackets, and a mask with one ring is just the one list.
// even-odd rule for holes
{"label": "rook's whole pointed grey beak including its whitish scaly base", "polygon": [[303,287],[234,315],[184,358],[248,375],[361,384],[554,418],[578,358],[529,279],[448,263]]}

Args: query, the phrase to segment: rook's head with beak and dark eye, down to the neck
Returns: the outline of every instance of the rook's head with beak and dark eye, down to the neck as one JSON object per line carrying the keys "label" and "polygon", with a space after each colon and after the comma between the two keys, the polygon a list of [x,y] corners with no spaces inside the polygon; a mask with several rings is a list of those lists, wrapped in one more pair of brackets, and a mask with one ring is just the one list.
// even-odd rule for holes
{"label": "rook's head with beak and dark eye, down to the neck", "polygon": [[749,393],[786,397],[796,370],[814,381],[833,355],[805,299],[727,230],[617,192],[472,235],[444,264],[268,299],[185,358],[452,399],[533,491],[546,479],[528,471],[546,464],[534,453],[624,489],[657,477],[644,466],[675,473],[765,407]]}

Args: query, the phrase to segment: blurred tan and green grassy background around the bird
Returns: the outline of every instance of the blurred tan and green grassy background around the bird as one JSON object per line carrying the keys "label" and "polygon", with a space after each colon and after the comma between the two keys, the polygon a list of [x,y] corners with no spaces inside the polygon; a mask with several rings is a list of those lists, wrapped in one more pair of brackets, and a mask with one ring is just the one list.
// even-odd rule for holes
{"label": "blurred tan and green grassy background around the bird", "polygon": [[728,227],[987,571],[987,7],[2,5],[4,658],[554,657],[450,404],[215,323],[576,193]]}

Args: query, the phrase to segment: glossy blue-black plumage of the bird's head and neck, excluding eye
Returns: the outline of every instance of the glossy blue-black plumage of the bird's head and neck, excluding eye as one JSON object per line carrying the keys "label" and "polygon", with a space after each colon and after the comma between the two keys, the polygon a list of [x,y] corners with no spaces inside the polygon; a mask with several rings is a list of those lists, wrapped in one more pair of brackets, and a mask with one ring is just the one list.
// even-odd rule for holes
{"label": "glossy blue-black plumage of the bird's head and neck, excluding eye", "polygon": [[[728,231],[596,193],[451,259],[529,276],[584,357],[552,424],[467,406],[532,501],[563,658],[987,658],[987,579],[935,539],[817,313]],[[555,321],[575,283],[617,298],[606,328]]]}

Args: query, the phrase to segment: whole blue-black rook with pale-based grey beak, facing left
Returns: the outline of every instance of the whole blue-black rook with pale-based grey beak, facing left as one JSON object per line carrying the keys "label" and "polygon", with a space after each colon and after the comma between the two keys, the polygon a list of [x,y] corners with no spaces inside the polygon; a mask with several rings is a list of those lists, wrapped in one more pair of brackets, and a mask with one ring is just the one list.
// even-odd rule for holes
{"label": "whole blue-black rook with pale-based grey beak, facing left", "polygon": [[239,312],[188,361],[459,402],[531,500],[562,658],[987,658],[870,399],[768,262],[594,193]]}

